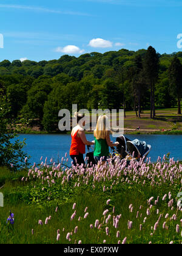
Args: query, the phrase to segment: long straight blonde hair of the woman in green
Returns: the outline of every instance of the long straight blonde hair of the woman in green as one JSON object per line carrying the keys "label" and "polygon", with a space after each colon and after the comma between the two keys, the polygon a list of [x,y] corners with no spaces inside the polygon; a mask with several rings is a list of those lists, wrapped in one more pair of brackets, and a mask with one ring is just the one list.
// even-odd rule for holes
{"label": "long straight blonde hair of the woman in green", "polygon": [[106,115],[101,115],[98,118],[98,121],[96,123],[96,129],[93,132],[94,137],[96,140],[99,139],[106,139],[108,129],[108,118]]}

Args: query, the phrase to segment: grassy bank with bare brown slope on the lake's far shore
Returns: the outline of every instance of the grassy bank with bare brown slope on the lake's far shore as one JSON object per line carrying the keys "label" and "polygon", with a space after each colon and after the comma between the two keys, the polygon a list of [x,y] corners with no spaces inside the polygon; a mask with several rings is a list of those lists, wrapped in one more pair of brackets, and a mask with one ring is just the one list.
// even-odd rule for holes
{"label": "grassy bank with bare brown slope on the lake's far shore", "polygon": [[[116,118],[117,119],[117,118]],[[141,134],[182,134],[182,118],[177,114],[177,108],[161,108],[156,110],[156,116],[150,119],[150,110],[144,110],[141,118],[136,117],[133,111],[126,111],[126,118],[124,118],[124,133],[125,134],[140,134],[137,133],[136,128],[140,127]],[[47,131],[40,130],[39,126],[24,127],[21,133],[26,134],[47,134]],[[60,133],[59,130],[51,133]]]}

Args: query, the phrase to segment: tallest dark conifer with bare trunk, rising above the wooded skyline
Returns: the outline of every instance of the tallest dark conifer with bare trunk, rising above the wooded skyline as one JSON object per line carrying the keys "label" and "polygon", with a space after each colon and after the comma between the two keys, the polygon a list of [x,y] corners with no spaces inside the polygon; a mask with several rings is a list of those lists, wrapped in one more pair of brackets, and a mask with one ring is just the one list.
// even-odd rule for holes
{"label": "tallest dark conifer with bare trunk, rising above the wooded skyline", "polygon": [[144,57],[144,76],[150,86],[150,118],[155,117],[155,84],[159,73],[159,56],[152,46],[147,49]]}

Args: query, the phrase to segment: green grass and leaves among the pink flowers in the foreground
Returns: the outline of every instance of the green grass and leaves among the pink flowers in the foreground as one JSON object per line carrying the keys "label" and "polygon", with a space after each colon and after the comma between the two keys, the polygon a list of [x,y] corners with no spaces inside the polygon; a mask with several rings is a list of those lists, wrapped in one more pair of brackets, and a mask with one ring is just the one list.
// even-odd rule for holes
{"label": "green grass and leaves among the pink flowers in the foreground", "polygon": [[[152,168],[152,166],[150,166]],[[46,170],[44,170],[45,173]],[[48,173],[47,173],[48,174]],[[46,174],[46,175],[47,175]],[[131,177],[130,177],[131,176]],[[180,183],[161,183],[160,186],[151,186],[150,182],[146,180],[146,185],[141,183],[132,184],[119,182],[113,185],[110,190],[113,180],[105,180],[105,182],[96,182],[95,189],[92,187],[92,179],[88,185],[83,185],[84,176],[75,176],[65,185],[61,185],[61,180],[55,179],[56,183],[48,187],[47,183],[42,184],[41,180],[33,179],[21,181],[22,177],[27,177],[27,172],[10,172],[6,168],[0,168],[0,180],[5,185],[0,191],[4,194],[4,207],[0,211],[0,243],[7,244],[45,244],[45,243],[63,243],[72,244],[82,243],[101,244],[106,240],[108,244],[116,244],[118,240],[123,241],[127,236],[127,243],[181,243],[181,234],[175,232],[176,224],[180,222],[182,215],[178,213],[177,221],[169,221],[167,219],[167,226],[169,230],[164,230],[162,224],[165,221],[164,216],[169,213],[170,216],[174,214],[174,210],[170,210],[167,206],[167,200],[162,201],[164,194],[172,193],[172,198],[177,196],[180,190]],[[79,177],[79,181],[78,181]],[[132,180],[132,174],[127,176]],[[126,179],[126,177],[125,177]],[[80,187],[75,187],[75,182],[80,182]],[[103,192],[103,186],[106,189]],[[1,187],[1,186],[0,186]],[[44,187],[44,191],[42,188]],[[150,216],[147,216],[146,223],[143,223],[146,217],[147,199],[153,199],[153,207],[150,210]],[[160,201],[154,205],[154,200],[160,196]],[[50,197],[48,199],[48,197]],[[109,205],[106,201],[110,199]],[[70,221],[72,216],[73,203],[76,202],[76,216],[73,221]],[[133,212],[129,211],[129,205],[133,205]],[[140,205],[142,208],[140,210]],[[115,213],[113,213],[113,206],[115,206]],[[175,205],[174,205],[175,206]],[[58,207],[58,212],[55,208]],[[88,207],[87,212],[89,216],[84,219],[84,209]],[[108,224],[104,222],[103,211],[108,209],[110,221]],[[160,225],[153,236],[150,235],[153,231],[151,227],[157,222],[157,209],[163,217]],[[8,226],[6,223],[9,211],[15,214],[15,224]],[[139,217],[136,219],[136,213],[140,211]],[[109,214],[108,213],[108,214]],[[107,215],[108,215],[107,214]],[[119,226],[116,229],[113,227],[113,215],[120,215],[121,219]],[[142,216],[141,216],[142,214]],[[39,219],[45,222],[47,217],[51,219],[47,225],[38,225]],[[81,220],[78,221],[79,216]],[[95,224],[96,219],[102,224],[101,229],[90,229],[90,224]],[[127,229],[127,222],[133,221],[133,228]],[[140,224],[143,229],[140,231]],[[75,227],[78,226],[78,233],[74,233]],[[106,235],[106,227],[109,227],[109,236]],[[62,231],[64,228],[64,232]],[[33,229],[33,235],[32,235]],[[56,241],[57,230],[60,230],[61,238]],[[116,232],[120,230],[120,238],[116,238]],[[68,232],[72,232],[71,241],[66,239]]]}

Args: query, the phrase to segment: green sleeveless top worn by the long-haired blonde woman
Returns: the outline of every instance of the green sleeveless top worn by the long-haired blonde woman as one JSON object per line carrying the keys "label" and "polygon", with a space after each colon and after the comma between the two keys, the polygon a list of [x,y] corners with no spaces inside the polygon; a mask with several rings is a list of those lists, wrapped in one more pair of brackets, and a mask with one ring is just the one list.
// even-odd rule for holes
{"label": "green sleeveless top worn by the long-haired blonde woman", "polygon": [[95,157],[107,157],[109,156],[109,146],[107,145],[107,141],[103,139],[95,140],[95,147],[93,155]]}

